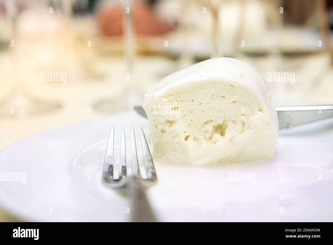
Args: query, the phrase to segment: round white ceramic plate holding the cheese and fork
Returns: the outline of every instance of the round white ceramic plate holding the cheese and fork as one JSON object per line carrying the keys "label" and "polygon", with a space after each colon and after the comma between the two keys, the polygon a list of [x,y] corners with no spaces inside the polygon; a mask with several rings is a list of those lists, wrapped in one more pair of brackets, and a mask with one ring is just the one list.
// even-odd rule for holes
{"label": "round white ceramic plate holding the cheese and fork", "polygon": [[[29,221],[129,220],[126,195],[101,185],[112,125],[116,159],[122,126],[127,140],[134,126],[138,149],[142,127],[152,147],[147,119],[134,111],[25,138],[0,151],[0,173],[26,173],[25,184],[0,182],[0,205]],[[332,125],[281,132],[270,160],[205,168],[155,163],[151,205],[160,221],[333,221]]]}

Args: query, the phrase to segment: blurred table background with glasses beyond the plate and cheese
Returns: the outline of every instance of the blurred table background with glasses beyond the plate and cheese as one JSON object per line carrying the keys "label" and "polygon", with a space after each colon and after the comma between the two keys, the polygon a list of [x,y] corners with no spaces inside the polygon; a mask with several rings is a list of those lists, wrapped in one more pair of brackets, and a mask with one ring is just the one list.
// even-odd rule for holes
{"label": "blurred table background with glasses beyond the plate and cheese", "polygon": [[333,104],[332,30],[333,0],[0,0],[0,149],[212,57],[253,66],[276,106]]}

